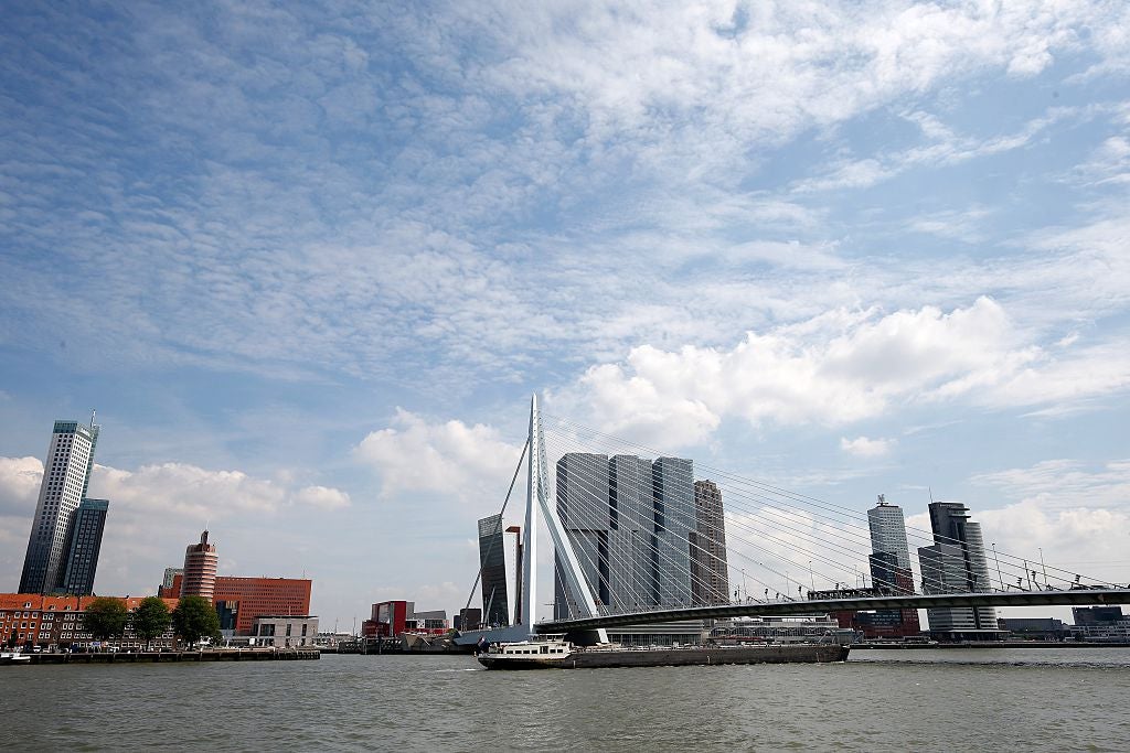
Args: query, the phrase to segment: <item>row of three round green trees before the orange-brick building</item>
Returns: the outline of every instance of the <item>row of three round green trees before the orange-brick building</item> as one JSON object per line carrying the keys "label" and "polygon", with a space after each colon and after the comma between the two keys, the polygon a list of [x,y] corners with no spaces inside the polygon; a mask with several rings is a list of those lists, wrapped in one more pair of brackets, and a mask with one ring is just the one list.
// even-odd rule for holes
{"label": "row of three round green trees before the orange-brick building", "polygon": [[[84,612],[86,631],[96,640],[124,634],[129,622],[130,611],[125,602],[111,596],[95,598]],[[173,625],[176,637],[189,646],[201,638],[219,639],[219,615],[202,596],[182,596],[172,612],[164,599],[149,596],[142,598],[133,612],[133,633],[146,642],[146,648],[151,648],[153,640],[165,634],[169,625]]]}

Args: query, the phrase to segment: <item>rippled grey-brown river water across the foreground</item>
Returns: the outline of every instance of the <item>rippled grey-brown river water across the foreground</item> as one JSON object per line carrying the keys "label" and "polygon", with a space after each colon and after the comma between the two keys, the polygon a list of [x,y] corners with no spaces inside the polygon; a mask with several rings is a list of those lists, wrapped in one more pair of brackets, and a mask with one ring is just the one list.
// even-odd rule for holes
{"label": "rippled grey-brown river water across the foreground", "polygon": [[1130,649],[485,672],[471,657],[0,667],[0,748],[1124,751]]}

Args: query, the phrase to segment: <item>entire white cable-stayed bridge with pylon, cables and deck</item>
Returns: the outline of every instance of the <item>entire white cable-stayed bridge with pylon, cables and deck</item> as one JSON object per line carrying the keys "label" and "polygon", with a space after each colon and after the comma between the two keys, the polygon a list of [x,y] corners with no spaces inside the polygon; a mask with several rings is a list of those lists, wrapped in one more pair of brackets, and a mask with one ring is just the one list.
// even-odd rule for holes
{"label": "entire white cable-stayed bridge with pylon, cables and deck", "polygon": [[[684,458],[645,457],[655,455],[542,415],[534,395],[502,508],[524,467],[513,624],[458,642],[533,633],[607,641],[607,629],[625,625],[919,608],[959,611],[967,628],[996,629],[997,606],[1130,603],[1130,587],[1045,563],[1042,551],[986,549],[958,504],[936,506],[950,516],[948,527],[905,526],[901,510],[876,526],[855,509]],[[537,622],[542,524],[555,562],[554,618]]]}

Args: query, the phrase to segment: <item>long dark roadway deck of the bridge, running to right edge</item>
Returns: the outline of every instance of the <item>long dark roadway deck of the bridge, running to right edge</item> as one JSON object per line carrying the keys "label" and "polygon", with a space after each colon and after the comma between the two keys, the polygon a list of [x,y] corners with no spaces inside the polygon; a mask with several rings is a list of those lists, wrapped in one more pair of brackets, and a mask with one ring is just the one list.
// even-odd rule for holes
{"label": "long dark roadway deck of the bridge, running to right edge", "polygon": [[789,616],[825,614],[827,612],[866,612],[869,610],[928,610],[947,606],[1089,606],[1094,604],[1130,604],[1130,588],[1074,588],[1070,590],[1008,590],[975,594],[936,594],[915,596],[868,596],[812,601],[772,601],[689,606],[675,610],[652,610],[602,614],[576,620],[554,620],[533,625],[538,633],[565,633],[617,625],[641,625],[680,620],[703,620],[742,616]]}

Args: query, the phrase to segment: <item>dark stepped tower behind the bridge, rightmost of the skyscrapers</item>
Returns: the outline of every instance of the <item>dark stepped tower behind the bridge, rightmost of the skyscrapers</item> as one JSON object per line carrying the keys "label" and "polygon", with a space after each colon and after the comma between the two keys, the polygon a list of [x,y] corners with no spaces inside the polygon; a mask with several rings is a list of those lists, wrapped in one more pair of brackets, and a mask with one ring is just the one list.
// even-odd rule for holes
{"label": "dark stepped tower behind the bridge, rightmost of the skyscrapers", "polygon": [[[933,545],[919,548],[922,590],[927,594],[990,590],[981,524],[970,520],[960,502],[931,502]],[[991,606],[927,610],[931,631],[967,632],[997,630]]]}

